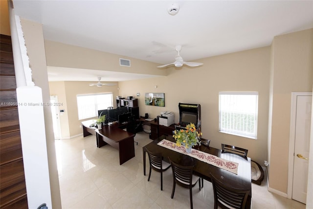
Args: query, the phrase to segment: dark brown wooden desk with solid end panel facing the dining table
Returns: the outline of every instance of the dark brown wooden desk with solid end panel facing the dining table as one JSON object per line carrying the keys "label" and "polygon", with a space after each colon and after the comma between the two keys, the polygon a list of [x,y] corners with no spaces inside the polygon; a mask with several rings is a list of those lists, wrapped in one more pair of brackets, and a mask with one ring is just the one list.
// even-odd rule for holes
{"label": "dark brown wooden desk with solid end panel facing the dining table", "polygon": [[110,144],[118,150],[119,164],[135,157],[134,134],[119,128],[118,124],[104,125],[102,129],[95,130],[97,147]]}

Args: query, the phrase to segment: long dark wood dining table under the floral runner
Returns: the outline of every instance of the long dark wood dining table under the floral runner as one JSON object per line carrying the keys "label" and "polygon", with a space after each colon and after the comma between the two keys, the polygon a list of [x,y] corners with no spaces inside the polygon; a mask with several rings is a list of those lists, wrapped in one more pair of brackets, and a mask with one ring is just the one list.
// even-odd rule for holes
{"label": "long dark wood dining table under the floral runner", "polygon": [[146,152],[147,150],[160,153],[165,162],[169,163],[168,158],[172,161],[185,164],[185,165],[194,165],[193,172],[195,175],[211,182],[210,173],[217,177],[220,181],[228,186],[232,186],[240,189],[249,189],[250,195],[247,200],[246,208],[251,207],[251,159],[247,157],[242,157],[232,153],[222,153],[222,150],[216,149],[214,147],[207,147],[204,145],[195,146],[194,149],[198,149],[202,152],[215,155],[219,158],[236,162],[238,163],[238,172],[237,174],[230,171],[224,170],[222,168],[216,167],[209,163],[202,162],[196,158],[192,158],[188,155],[176,152],[174,150],[168,149],[166,147],[160,146],[157,143],[162,139],[167,139],[169,141],[175,142],[172,136],[161,136],[158,139],[150,142],[149,144],[142,147],[143,151],[143,174],[146,175]]}

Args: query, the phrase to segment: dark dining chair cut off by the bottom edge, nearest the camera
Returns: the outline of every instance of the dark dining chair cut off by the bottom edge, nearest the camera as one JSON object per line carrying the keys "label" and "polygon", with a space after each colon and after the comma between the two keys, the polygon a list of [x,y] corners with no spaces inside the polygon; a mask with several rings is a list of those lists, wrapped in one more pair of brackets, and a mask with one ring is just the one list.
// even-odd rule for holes
{"label": "dark dining chair cut off by the bottom edge, nearest the camera", "polygon": [[248,189],[238,189],[219,181],[210,173],[214,192],[214,209],[245,209],[247,198],[250,193]]}

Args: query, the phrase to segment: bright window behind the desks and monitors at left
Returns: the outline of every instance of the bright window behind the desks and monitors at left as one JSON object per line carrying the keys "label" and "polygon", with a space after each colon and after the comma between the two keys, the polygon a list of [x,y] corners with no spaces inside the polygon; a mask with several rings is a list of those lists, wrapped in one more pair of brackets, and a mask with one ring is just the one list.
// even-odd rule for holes
{"label": "bright window behind the desks and monitors at left", "polygon": [[98,116],[98,110],[113,106],[112,93],[80,94],[77,95],[78,119]]}

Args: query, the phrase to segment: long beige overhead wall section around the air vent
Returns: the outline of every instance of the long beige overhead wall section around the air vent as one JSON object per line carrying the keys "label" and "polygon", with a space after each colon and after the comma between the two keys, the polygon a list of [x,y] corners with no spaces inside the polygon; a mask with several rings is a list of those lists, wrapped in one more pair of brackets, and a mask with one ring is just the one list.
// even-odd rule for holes
{"label": "long beige overhead wall section around the air vent", "polygon": [[[166,70],[156,68],[156,63],[79,46],[45,40],[45,50],[47,66],[167,75]],[[131,67],[120,66],[119,58],[131,59]]]}

